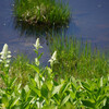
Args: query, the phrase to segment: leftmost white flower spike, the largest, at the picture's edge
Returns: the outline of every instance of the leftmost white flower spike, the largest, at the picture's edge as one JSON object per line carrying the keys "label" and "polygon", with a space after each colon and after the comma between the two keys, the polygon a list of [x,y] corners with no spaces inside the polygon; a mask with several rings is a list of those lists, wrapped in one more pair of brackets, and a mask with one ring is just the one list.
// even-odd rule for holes
{"label": "leftmost white flower spike, the largest, at the picture's edge", "polygon": [[8,45],[4,44],[2,51],[0,52],[0,62],[4,63],[4,66],[9,66],[11,58],[11,51],[8,51]]}

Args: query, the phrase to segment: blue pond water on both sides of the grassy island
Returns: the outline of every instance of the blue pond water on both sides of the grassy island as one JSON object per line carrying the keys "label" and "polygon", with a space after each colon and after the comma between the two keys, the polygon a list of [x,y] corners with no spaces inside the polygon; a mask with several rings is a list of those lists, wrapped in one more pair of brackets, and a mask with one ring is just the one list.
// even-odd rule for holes
{"label": "blue pond water on both sides of the grassy island", "polygon": [[[74,35],[77,38],[92,43],[101,51],[109,49],[109,0],[69,0],[72,11],[72,19],[65,34]],[[4,44],[9,45],[12,55],[26,53],[33,59],[35,40],[40,38],[44,47],[43,62],[45,63],[50,55],[46,44],[45,35],[40,35],[37,29],[32,34],[27,29],[21,28],[14,21],[13,0],[0,0],[0,51]]]}

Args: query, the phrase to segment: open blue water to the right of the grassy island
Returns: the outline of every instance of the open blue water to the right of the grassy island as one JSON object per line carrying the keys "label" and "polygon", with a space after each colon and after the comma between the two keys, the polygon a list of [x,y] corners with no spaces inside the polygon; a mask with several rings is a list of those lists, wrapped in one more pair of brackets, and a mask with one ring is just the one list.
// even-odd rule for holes
{"label": "open blue water to the right of the grassy island", "polygon": [[72,22],[69,34],[109,49],[109,0],[69,0]]}

